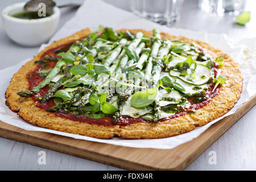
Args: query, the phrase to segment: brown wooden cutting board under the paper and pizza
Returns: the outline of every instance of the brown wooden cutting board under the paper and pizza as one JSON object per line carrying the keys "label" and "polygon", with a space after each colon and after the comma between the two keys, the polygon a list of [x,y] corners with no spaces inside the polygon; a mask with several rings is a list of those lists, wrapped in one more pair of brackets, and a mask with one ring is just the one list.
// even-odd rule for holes
{"label": "brown wooden cutting board under the paper and pizza", "polygon": [[199,137],[171,150],[130,148],[89,142],[39,131],[26,131],[0,121],[0,136],[49,148],[100,163],[133,170],[181,170],[229,129],[256,103],[256,95],[229,115],[214,123]]}

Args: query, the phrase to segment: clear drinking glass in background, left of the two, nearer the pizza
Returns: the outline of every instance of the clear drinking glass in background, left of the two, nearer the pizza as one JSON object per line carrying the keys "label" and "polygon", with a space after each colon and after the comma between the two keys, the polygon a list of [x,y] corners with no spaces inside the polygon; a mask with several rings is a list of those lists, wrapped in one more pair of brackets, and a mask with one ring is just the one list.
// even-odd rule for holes
{"label": "clear drinking glass in background, left of the two, nearer the pizza", "polygon": [[133,13],[159,24],[171,26],[180,16],[183,0],[132,0]]}

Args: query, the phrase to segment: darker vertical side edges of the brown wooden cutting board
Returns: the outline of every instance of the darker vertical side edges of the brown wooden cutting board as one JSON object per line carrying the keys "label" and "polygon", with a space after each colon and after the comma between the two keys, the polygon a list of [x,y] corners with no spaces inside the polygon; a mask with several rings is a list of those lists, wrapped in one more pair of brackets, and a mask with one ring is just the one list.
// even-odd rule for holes
{"label": "darker vertical side edges of the brown wooden cutting board", "polygon": [[[55,146],[54,143],[51,143],[51,142],[49,143],[47,140],[42,142],[42,139],[40,140],[40,143],[38,143],[39,139],[36,139],[36,137],[34,137],[34,138],[30,137],[30,140],[28,141],[27,140],[28,135],[26,135],[26,134],[23,134],[22,136],[20,136],[18,133],[15,133],[15,132],[9,131],[9,130],[3,130],[1,128],[0,128],[0,137],[17,140],[19,142],[24,142],[24,143],[32,144],[34,146],[48,148],[50,150],[63,152],[64,154],[78,156],[80,158],[89,159],[89,160],[93,160],[95,162],[109,164],[111,166],[128,169],[128,170],[183,170],[187,166],[189,166],[189,164],[191,164],[193,162],[193,160],[195,160],[202,152],[204,152],[215,140],[217,140],[222,134],[224,134],[226,130],[228,130],[234,123],[236,123],[236,121],[238,119],[240,119],[245,113],[247,113],[247,111],[249,111],[251,109],[251,107],[253,107],[255,105],[255,101],[256,101],[256,95],[254,95],[249,101],[247,101],[243,104],[242,107],[244,107],[243,109],[245,109],[245,110],[243,110],[243,112],[241,111],[241,107],[239,108],[240,113],[237,113],[237,114],[239,114],[238,117],[236,119],[234,119],[233,121],[230,121],[230,123],[228,125],[226,125],[226,127],[224,129],[222,129],[221,132],[217,132],[216,134],[214,134],[208,143],[207,142],[203,143],[199,148],[197,148],[197,150],[195,152],[193,152],[191,155],[189,155],[188,158],[182,160],[179,164],[177,164],[176,166],[171,167],[171,168],[156,168],[156,167],[147,166],[147,165],[140,164],[140,163],[129,162],[127,160],[109,158],[109,156],[106,156],[106,155],[104,156],[102,154],[101,155],[93,154],[92,151],[86,152],[84,150],[82,150],[82,151],[76,150],[75,147],[72,148],[72,147],[64,146],[64,145]],[[230,116],[232,116],[232,115],[230,115]],[[212,126],[217,125],[217,123],[214,123]],[[8,125],[8,124],[6,124],[6,125]],[[22,129],[20,129],[20,130],[22,130]],[[34,132],[36,132],[36,131],[34,131]],[[205,132],[207,132],[207,130]],[[201,134],[201,135],[203,135],[203,134]],[[189,142],[191,142],[191,141],[189,141]]]}

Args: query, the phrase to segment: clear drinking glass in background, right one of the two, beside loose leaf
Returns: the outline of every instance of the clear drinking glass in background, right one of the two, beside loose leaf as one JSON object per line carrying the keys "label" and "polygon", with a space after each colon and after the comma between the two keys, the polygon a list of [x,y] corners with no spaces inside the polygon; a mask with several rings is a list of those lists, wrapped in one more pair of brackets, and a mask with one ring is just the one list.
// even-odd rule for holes
{"label": "clear drinking glass in background, right one of the two, beside loose leaf", "polygon": [[199,7],[209,14],[240,14],[245,8],[246,0],[199,0]]}

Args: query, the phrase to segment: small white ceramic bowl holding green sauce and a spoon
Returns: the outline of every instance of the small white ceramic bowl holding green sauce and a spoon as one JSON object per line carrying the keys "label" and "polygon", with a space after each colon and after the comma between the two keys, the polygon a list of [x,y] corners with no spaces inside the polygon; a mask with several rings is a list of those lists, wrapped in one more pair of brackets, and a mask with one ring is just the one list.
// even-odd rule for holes
{"label": "small white ceramic bowl holding green sauce and a spoon", "polygon": [[2,11],[3,25],[10,39],[22,46],[39,46],[46,43],[57,30],[60,10],[54,7],[53,14],[40,19],[14,18],[23,11],[25,2],[7,6]]}

